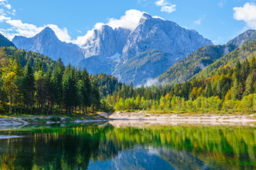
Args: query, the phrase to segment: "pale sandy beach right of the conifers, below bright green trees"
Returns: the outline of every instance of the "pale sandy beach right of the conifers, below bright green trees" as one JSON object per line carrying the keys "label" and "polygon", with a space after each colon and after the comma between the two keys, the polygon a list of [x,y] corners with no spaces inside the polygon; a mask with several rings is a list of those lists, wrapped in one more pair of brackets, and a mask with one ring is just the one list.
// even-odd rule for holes
{"label": "pale sandy beach right of the conifers, below bright green trees", "polygon": [[248,123],[256,122],[256,115],[219,115],[219,114],[148,114],[146,111],[140,112],[128,112],[121,113],[115,112],[110,115],[110,119],[115,120],[171,120],[174,122],[239,122],[239,123]]}

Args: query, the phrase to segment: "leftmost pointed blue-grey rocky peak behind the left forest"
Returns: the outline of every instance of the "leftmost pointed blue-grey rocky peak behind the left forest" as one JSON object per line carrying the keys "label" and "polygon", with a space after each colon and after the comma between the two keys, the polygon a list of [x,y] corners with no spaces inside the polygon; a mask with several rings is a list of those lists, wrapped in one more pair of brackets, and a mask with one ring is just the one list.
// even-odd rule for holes
{"label": "leftmost pointed blue-grey rocky peak behind the left forest", "polygon": [[49,27],[46,27],[32,38],[16,35],[12,42],[19,49],[42,53],[53,60],[61,58],[65,65],[68,63],[76,65],[84,58],[76,44],[60,41],[55,32]]}

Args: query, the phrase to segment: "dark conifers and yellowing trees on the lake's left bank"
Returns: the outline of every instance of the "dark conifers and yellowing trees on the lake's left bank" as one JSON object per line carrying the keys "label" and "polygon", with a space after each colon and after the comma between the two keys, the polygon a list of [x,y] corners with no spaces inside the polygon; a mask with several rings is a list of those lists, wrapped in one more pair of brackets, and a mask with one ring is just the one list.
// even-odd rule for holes
{"label": "dark conifers and yellowing trees on the lake's left bank", "polygon": [[23,68],[20,50],[10,50],[0,48],[1,113],[70,115],[101,109],[98,80],[85,68],[65,67],[61,59],[49,64],[40,56]]}

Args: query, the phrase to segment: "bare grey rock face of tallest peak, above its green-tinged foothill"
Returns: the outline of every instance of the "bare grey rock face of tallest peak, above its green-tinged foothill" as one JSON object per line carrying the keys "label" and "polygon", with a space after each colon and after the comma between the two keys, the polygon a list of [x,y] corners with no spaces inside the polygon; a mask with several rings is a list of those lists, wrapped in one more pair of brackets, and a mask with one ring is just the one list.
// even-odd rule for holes
{"label": "bare grey rock face of tallest peak, above its green-tinged foothill", "polygon": [[158,49],[183,58],[204,45],[213,43],[195,30],[187,30],[172,21],[144,14],[137,28],[128,36],[122,51],[122,62],[148,49]]}

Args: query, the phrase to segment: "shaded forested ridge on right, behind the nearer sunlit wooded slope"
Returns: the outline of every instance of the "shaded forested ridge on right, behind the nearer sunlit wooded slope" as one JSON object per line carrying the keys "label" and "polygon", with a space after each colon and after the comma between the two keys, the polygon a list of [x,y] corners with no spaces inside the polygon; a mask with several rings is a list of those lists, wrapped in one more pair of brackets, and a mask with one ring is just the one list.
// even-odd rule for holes
{"label": "shaded forested ridge on right, behind the nearer sunlit wooded slope", "polygon": [[158,76],[158,80],[160,82],[170,83],[171,85],[183,83],[243,43],[255,39],[256,30],[247,30],[225,45],[207,45],[201,47],[168,68],[165,73]]}

